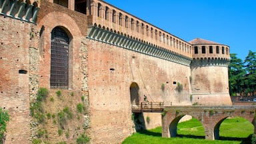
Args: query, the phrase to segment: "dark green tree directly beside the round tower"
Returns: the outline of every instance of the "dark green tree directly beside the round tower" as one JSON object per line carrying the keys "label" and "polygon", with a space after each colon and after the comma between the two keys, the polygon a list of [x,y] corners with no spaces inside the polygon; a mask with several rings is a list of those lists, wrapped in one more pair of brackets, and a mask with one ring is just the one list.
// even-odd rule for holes
{"label": "dark green tree directly beside the round tower", "polygon": [[243,75],[245,75],[243,61],[237,58],[236,55],[236,53],[230,54],[231,59],[229,63],[229,93],[235,96],[242,91]]}

